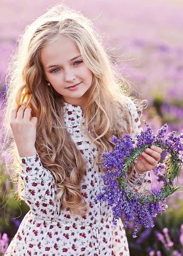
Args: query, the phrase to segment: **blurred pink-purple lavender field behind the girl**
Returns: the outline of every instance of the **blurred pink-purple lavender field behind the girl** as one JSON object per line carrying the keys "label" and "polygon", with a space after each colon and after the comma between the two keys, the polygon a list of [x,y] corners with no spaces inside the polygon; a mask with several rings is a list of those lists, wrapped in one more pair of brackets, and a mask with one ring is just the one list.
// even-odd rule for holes
{"label": "blurred pink-purple lavender field behind the girl", "polygon": [[[58,2],[1,0],[2,95],[6,90],[6,69],[18,44],[17,38],[27,24]],[[81,9],[105,33],[105,47],[119,59],[118,65],[125,79],[134,84],[132,94],[138,99],[148,100],[142,120],[145,119],[154,131],[167,123],[168,131],[183,133],[183,1],[65,0],[65,3],[72,8]],[[20,205],[12,197],[12,185],[8,176],[3,175],[5,155],[6,152],[3,151],[0,167],[0,256],[29,210],[26,204]],[[153,171],[152,177],[154,190],[161,184],[156,182]],[[183,185],[183,173],[180,175],[179,185]],[[131,227],[126,230],[131,256],[137,253],[139,256],[183,255],[181,190],[167,199],[168,208],[163,215],[154,219],[154,228],[142,227],[137,239],[131,238],[131,223]]]}

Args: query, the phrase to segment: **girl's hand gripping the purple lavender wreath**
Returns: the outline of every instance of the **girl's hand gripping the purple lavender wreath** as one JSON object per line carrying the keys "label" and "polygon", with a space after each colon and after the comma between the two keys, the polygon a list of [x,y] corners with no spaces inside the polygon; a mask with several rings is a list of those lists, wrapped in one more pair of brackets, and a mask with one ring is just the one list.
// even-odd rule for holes
{"label": "girl's hand gripping the purple lavender wreath", "polygon": [[152,170],[160,161],[162,149],[151,145],[150,148],[146,148],[145,151],[137,158],[136,172],[143,174],[144,172]]}

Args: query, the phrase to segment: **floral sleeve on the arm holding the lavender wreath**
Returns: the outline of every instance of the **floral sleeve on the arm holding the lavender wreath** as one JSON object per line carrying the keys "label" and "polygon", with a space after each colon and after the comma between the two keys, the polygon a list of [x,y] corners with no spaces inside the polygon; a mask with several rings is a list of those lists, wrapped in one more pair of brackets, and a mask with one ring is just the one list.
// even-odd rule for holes
{"label": "floral sleeve on the arm holding the lavender wreath", "polygon": [[[137,113],[137,108],[132,102],[131,99],[128,99],[128,108],[131,112],[132,116],[132,134],[131,137],[135,141],[135,134],[140,134],[140,131],[142,131],[142,126],[139,120],[139,116]],[[137,163],[137,160],[135,160],[132,164],[132,173],[129,179],[127,179],[127,185],[131,190],[134,190],[136,192],[146,192],[147,190],[150,190],[151,188],[151,173],[150,171],[145,172],[144,174],[139,174],[136,172],[135,165]]]}

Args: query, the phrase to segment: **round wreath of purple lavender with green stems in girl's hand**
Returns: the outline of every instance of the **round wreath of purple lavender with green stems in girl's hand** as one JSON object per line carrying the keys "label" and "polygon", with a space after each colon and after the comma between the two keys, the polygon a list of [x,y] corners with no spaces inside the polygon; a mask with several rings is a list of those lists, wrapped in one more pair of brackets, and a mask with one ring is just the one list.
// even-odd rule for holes
{"label": "round wreath of purple lavender with green stems in girl's hand", "polygon": [[[115,145],[114,150],[102,154],[102,164],[108,170],[102,175],[104,186],[94,199],[96,203],[108,201],[113,210],[114,225],[121,215],[124,215],[124,228],[127,228],[129,221],[134,220],[134,238],[137,237],[139,225],[154,227],[152,217],[165,212],[166,198],[180,189],[180,186],[174,186],[174,179],[178,177],[183,166],[183,134],[176,136],[176,132],[172,131],[166,136],[168,126],[165,124],[157,131],[157,135],[154,135],[148,123],[144,123],[147,129],[135,135],[136,143],[129,134],[120,139],[116,136],[110,138]],[[145,195],[128,188],[127,170],[142,151],[151,145],[166,150],[167,155],[163,162],[153,169],[157,182],[161,181],[163,186],[158,191],[147,191],[148,195]]]}

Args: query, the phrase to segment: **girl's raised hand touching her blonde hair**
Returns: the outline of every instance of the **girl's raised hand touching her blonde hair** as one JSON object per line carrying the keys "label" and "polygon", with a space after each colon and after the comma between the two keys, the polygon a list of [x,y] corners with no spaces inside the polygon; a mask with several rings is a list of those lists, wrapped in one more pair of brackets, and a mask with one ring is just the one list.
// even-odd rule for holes
{"label": "girl's raised hand touching her blonde hair", "polygon": [[20,157],[31,156],[37,152],[35,149],[37,117],[33,116],[30,120],[31,111],[31,108],[26,108],[26,103],[23,103],[19,109],[16,105],[10,117],[10,126]]}

